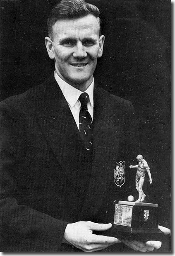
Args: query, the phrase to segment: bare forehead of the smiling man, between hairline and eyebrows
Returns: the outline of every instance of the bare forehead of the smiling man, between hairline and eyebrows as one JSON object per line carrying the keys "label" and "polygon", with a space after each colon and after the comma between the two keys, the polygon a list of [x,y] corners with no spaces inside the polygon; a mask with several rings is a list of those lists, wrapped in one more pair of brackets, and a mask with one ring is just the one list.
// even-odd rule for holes
{"label": "bare forehead of the smiling man, between hairline and eyebrows", "polygon": [[88,37],[99,36],[100,25],[93,15],[72,19],[58,20],[53,25],[53,36],[63,37]]}

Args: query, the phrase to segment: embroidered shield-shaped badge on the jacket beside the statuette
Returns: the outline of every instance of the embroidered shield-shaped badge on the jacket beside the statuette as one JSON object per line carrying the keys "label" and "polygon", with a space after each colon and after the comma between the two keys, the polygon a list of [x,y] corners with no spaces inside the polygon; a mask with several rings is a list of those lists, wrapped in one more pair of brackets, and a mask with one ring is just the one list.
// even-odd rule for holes
{"label": "embroidered shield-shaped badge on the jacket beside the statuette", "polygon": [[114,182],[120,188],[125,183],[125,161],[116,162],[114,169]]}

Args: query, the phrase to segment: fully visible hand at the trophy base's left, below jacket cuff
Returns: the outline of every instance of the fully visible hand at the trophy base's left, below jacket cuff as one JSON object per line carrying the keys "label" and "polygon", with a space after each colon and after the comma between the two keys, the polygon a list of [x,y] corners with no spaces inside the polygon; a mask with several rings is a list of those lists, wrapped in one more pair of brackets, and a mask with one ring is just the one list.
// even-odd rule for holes
{"label": "fully visible hand at the trophy base's left, below jacket cuff", "polygon": [[93,234],[94,231],[105,231],[112,227],[111,223],[98,224],[91,221],[80,221],[67,224],[64,239],[82,251],[91,252],[105,249],[119,243],[120,240],[111,236]]}

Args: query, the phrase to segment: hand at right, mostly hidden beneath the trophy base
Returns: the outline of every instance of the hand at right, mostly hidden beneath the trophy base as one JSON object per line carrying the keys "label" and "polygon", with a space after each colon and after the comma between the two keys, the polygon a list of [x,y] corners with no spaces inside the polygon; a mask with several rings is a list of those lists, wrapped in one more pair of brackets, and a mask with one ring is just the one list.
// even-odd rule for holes
{"label": "hand at right, mostly hidden beneath the trophy base", "polygon": [[[162,226],[158,226],[158,228],[165,234],[170,234],[170,229]],[[134,251],[153,251],[154,249],[161,248],[161,241],[147,241],[146,243],[143,243],[141,241],[122,241],[124,244],[126,244],[128,247],[132,248]]]}

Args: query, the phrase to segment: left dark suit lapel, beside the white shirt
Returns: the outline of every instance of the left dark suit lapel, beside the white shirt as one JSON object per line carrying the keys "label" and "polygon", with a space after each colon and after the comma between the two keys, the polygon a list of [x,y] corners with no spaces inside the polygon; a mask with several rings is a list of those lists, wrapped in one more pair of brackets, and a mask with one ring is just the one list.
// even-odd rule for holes
{"label": "left dark suit lapel, beside the white shirt", "polygon": [[[77,156],[81,149],[79,130],[55,78],[47,80],[38,122],[67,179],[76,180]],[[71,174],[70,174],[71,173]]]}

